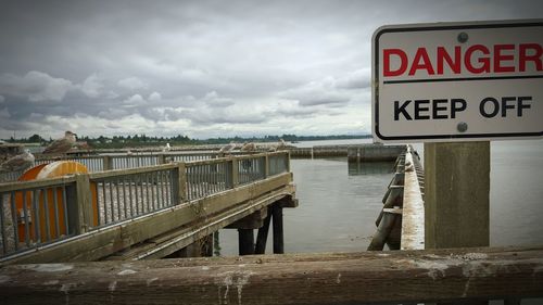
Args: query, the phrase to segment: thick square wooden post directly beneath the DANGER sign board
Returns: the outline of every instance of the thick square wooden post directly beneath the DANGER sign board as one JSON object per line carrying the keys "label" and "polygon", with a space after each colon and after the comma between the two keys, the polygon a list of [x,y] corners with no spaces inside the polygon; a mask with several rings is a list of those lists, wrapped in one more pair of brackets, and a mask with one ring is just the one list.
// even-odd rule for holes
{"label": "thick square wooden post directly beneath the DANGER sign board", "polygon": [[427,249],[489,245],[490,142],[425,143]]}

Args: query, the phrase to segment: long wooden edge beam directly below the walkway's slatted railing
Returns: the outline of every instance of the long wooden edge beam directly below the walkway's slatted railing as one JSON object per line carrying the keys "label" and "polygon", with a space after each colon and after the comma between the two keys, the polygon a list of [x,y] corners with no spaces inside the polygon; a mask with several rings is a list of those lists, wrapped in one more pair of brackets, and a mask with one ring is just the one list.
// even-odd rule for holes
{"label": "long wooden edge beam directly below the walkway's slatted railing", "polygon": [[[266,180],[217,193],[201,200],[184,203],[171,209],[161,211],[136,219],[123,221],[112,227],[90,231],[68,239],[59,244],[38,247],[25,255],[7,257],[0,263],[48,263],[85,262],[111,255],[131,244],[153,238],[157,234],[204,219],[220,211],[235,207],[247,200],[273,190],[285,188],[286,193],[293,193],[291,174],[277,175]],[[251,211],[251,213],[254,211]],[[232,221],[239,218],[233,218]],[[226,226],[228,224],[225,224]]]}

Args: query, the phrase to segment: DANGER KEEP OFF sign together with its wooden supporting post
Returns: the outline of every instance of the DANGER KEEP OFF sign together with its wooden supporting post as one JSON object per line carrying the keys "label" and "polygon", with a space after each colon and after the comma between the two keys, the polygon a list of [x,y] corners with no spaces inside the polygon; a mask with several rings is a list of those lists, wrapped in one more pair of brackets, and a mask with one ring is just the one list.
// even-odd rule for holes
{"label": "DANGER KEEP OFF sign together with its wooden supporting post", "polygon": [[490,140],[543,136],[543,21],[384,26],[372,134],[425,142],[426,247],[489,245]]}

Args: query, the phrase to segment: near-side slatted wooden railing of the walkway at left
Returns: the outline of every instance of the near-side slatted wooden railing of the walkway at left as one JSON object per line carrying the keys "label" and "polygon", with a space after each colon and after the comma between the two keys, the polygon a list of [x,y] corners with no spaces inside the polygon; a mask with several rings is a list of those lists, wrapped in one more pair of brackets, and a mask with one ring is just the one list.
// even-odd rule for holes
{"label": "near-side slatted wooden railing of the walkway at left", "polygon": [[276,152],[1,183],[0,260],[288,170]]}

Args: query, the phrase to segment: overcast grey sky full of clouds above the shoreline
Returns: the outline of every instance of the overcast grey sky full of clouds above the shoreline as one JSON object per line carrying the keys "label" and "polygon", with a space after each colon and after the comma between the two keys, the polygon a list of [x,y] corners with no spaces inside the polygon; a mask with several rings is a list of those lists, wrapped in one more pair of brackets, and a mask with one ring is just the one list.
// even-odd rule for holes
{"label": "overcast grey sky full of clouds above the shoreline", "polygon": [[0,138],[366,134],[377,27],[542,3],[0,1]]}

